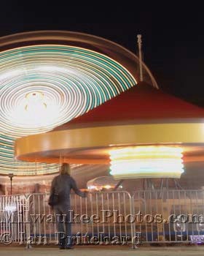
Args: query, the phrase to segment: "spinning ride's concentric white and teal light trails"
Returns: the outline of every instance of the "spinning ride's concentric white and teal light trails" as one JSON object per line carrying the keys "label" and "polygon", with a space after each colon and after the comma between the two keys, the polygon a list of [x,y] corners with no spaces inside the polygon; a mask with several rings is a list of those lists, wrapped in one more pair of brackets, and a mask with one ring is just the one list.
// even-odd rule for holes
{"label": "spinning ride's concentric white and teal light trails", "polygon": [[[136,84],[109,56],[72,45],[30,45],[0,53],[0,173],[54,173],[58,165],[14,160],[16,138],[47,132]],[[46,108],[26,111],[26,95]],[[27,97],[28,98],[28,97]]]}

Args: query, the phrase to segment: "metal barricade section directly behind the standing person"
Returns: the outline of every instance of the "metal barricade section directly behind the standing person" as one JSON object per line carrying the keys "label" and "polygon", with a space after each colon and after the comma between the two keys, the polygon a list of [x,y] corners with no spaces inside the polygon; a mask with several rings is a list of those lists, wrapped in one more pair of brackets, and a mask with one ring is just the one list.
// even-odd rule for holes
{"label": "metal barricade section directly behind the standing person", "polygon": [[[29,236],[47,237],[57,242],[57,217],[47,204],[49,195],[32,194],[28,197]],[[133,225],[125,222],[132,214],[131,197],[128,192],[95,192],[82,198],[71,194],[72,236],[82,244],[121,243],[133,236]],[[55,217],[54,217],[55,216]],[[75,241],[79,244],[79,240]]]}

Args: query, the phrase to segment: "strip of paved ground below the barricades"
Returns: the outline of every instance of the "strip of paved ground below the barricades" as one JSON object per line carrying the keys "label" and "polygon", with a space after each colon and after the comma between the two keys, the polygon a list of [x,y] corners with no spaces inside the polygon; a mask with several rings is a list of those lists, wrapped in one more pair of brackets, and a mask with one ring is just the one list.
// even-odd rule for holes
{"label": "strip of paved ground below the barricades", "polygon": [[2,256],[58,256],[58,255],[73,255],[73,256],[119,256],[119,255],[139,255],[139,256],[198,256],[204,255],[204,246],[188,246],[188,247],[141,247],[133,250],[124,247],[109,247],[109,248],[90,248],[90,247],[75,247],[73,250],[59,250],[57,248],[33,248],[25,249],[19,247],[3,247],[0,246],[0,255]]}

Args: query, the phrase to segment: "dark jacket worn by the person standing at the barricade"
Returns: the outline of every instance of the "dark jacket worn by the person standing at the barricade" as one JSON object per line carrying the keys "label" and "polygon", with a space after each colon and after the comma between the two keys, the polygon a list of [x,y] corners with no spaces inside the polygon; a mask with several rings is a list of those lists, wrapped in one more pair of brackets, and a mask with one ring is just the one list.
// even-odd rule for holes
{"label": "dark jacket worn by the person standing at the barricade", "polygon": [[69,176],[68,174],[60,174],[53,178],[50,195],[52,193],[56,193],[60,197],[60,203],[59,205],[63,206],[70,206],[70,192],[71,189],[74,190],[74,192],[79,195],[80,197],[85,197],[86,194],[82,191],[80,191],[76,187],[76,181],[74,181],[74,178]]}

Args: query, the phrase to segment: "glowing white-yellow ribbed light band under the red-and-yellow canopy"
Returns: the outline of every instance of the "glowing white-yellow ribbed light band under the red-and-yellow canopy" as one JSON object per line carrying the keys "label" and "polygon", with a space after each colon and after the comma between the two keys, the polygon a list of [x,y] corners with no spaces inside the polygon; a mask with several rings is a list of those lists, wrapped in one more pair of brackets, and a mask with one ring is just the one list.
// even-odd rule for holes
{"label": "glowing white-yellow ribbed light band under the red-and-yellow canopy", "polygon": [[112,150],[111,175],[114,178],[180,178],[184,173],[182,148],[136,146]]}

